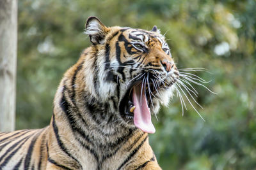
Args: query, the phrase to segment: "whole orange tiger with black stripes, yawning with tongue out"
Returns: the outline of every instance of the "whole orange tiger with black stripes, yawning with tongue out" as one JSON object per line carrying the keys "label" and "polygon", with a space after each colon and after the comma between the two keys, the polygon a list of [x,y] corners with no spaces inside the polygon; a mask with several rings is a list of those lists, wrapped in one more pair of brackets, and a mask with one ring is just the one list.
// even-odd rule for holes
{"label": "whole orange tiger with black stripes, yawning with tongue out", "polygon": [[50,124],[0,133],[0,169],[161,169],[151,116],[179,71],[156,26],[107,27],[88,17],[91,45],[61,79]]}

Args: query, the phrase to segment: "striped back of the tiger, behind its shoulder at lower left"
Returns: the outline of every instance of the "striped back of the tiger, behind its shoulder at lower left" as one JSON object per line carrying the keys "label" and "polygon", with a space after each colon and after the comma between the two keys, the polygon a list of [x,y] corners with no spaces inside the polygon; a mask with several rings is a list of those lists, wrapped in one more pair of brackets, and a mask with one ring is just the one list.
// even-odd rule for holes
{"label": "striped back of the tiger, behind its shoulder at lower left", "polygon": [[1,133],[0,169],[45,169],[47,128]]}

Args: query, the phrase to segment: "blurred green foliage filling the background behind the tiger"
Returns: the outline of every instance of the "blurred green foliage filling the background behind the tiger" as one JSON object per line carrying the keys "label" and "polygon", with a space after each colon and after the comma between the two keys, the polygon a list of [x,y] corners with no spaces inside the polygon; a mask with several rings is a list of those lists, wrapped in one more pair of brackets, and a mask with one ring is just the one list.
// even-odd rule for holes
{"label": "blurred green foliage filling the background behind the tiger", "polygon": [[[83,34],[95,15],[108,26],[150,30],[168,39],[179,68],[197,72],[203,87],[196,107],[177,96],[153,118],[150,143],[163,169],[256,168],[256,1],[19,1],[17,129],[49,124],[61,76],[90,45]],[[196,104],[194,103],[194,106]]]}

